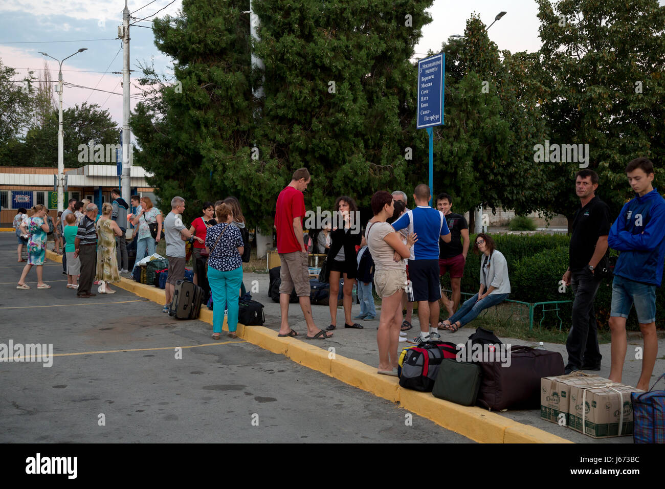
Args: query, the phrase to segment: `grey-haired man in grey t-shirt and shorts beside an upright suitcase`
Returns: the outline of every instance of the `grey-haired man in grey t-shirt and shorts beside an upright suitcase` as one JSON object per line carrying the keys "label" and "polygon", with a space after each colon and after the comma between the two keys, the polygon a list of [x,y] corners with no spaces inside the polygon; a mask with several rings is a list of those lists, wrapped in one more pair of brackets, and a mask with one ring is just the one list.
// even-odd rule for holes
{"label": "grey-haired man in grey t-shirt and shorts beside an upright suitcase", "polygon": [[168,277],[166,277],[166,304],[162,312],[168,313],[173,300],[176,281],[185,278],[185,240],[193,243],[204,241],[198,236],[192,236],[190,230],[182,222],[182,213],[185,212],[185,200],[174,197],[171,200],[171,212],[164,218],[164,240],[166,240],[166,259],[168,259]]}

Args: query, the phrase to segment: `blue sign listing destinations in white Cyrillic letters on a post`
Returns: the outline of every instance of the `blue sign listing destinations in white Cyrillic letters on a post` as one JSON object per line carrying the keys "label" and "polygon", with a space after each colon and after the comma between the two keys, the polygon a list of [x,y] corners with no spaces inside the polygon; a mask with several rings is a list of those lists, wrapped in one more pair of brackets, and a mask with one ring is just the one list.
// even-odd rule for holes
{"label": "blue sign listing destinations in white Cyrillic letters on a post", "polygon": [[418,111],[416,112],[418,129],[444,123],[445,71],[445,53],[418,61]]}

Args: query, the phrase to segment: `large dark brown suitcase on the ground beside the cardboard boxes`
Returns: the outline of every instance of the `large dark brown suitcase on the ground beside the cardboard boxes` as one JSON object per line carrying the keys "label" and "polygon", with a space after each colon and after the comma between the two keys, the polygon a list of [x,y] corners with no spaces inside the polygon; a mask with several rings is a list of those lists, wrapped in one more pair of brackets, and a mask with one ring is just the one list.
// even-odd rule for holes
{"label": "large dark brown suitcase on the ground beside the cardboard boxes", "polygon": [[501,361],[477,362],[482,373],[477,405],[497,411],[539,409],[541,379],[563,375],[561,353],[515,346],[509,355],[509,367]]}

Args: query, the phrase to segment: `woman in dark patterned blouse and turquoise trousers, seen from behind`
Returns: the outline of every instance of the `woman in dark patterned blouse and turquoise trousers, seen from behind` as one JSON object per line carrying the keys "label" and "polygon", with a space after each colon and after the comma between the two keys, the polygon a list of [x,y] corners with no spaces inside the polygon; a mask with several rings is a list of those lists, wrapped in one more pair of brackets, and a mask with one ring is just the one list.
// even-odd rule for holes
{"label": "woman in dark patterned blouse and turquoise trousers, seen from behind", "polygon": [[233,212],[229,204],[219,204],[215,213],[219,224],[208,228],[205,234],[205,249],[209,253],[207,278],[213,300],[212,339],[219,339],[221,335],[225,304],[229,337],[237,338],[238,291],[243,281],[243,237],[240,230],[231,225]]}

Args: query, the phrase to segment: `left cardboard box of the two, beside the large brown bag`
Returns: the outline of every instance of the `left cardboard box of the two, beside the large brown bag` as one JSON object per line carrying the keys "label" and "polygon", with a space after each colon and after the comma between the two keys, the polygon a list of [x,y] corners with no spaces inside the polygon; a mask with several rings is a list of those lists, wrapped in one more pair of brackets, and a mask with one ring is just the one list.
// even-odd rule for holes
{"label": "left cardboard box of the two, beside the large brown bag", "polygon": [[568,375],[543,377],[541,379],[541,418],[561,426],[568,426],[571,387],[609,382],[608,379],[598,375],[589,375],[582,371],[576,371]]}

